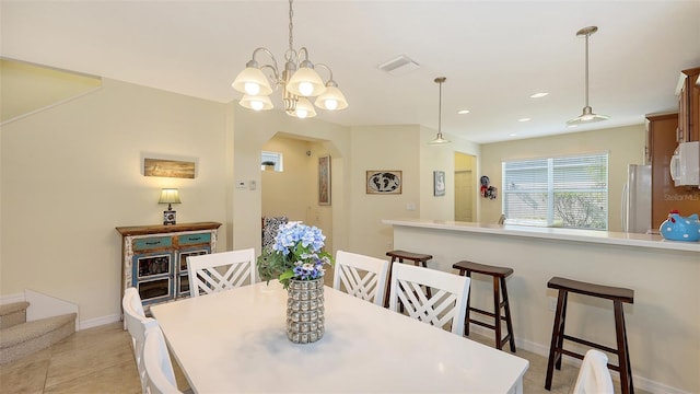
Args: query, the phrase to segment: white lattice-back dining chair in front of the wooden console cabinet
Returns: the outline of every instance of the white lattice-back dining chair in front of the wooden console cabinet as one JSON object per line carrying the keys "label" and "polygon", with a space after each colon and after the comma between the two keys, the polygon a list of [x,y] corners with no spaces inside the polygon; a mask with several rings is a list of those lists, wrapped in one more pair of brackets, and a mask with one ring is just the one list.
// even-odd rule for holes
{"label": "white lattice-back dining chair in front of the wooden console cabinet", "polygon": [[255,248],[187,256],[191,297],[255,283]]}

